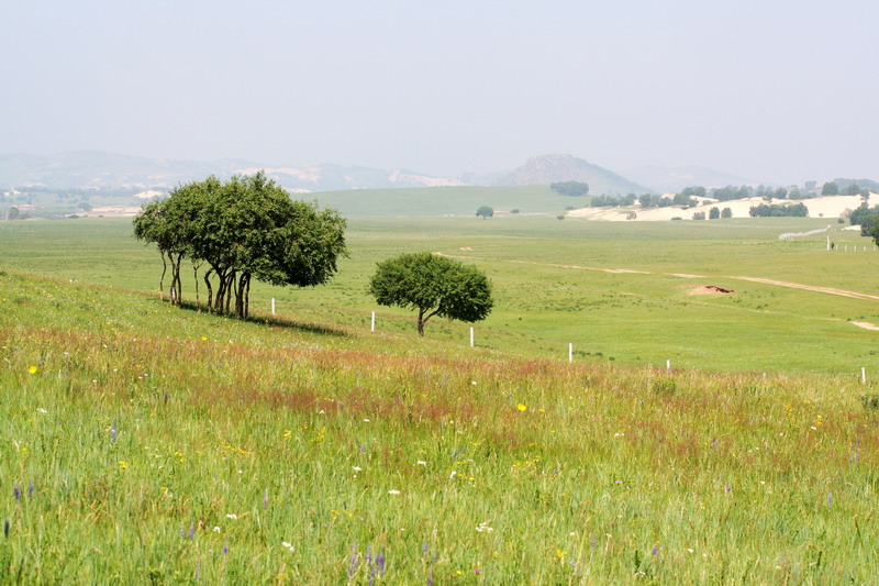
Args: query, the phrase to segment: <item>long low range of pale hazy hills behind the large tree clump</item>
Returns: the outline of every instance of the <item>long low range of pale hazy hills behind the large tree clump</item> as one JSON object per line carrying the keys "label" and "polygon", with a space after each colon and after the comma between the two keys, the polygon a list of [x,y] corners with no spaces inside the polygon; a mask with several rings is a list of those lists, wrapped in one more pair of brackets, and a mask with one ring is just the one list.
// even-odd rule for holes
{"label": "long low range of pale hazy hills behind the large tree clump", "polygon": [[80,151],[58,155],[0,155],[0,187],[47,188],[159,188],[215,175],[252,175],[265,169],[282,187],[297,192],[389,187],[441,187],[461,181],[403,169],[322,164],[308,167],[278,166],[252,161],[174,161],[113,153]]}

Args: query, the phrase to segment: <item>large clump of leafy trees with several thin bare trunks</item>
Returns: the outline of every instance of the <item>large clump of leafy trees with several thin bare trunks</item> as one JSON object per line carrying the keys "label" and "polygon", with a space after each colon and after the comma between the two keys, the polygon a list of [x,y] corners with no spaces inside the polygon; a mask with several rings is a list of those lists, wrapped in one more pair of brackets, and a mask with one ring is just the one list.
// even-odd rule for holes
{"label": "large clump of leafy trees with several thin bare trunks", "polygon": [[346,254],[344,230],[335,210],[291,200],[263,173],[181,185],[167,199],[146,203],[134,219],[134,237],[155,244],[162,256],[163,296],[170,265],[170,300],[181,303],[181,265],[188,259],[197,303],[198,272],[207,265],[208,310],[242,319],[253,279],[299,287],[326,283]]}

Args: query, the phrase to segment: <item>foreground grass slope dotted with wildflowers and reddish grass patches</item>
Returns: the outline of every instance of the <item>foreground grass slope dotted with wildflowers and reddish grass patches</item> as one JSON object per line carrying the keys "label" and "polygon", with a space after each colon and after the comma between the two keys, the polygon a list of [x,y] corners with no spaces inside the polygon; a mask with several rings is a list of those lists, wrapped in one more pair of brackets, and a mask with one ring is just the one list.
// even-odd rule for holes
{"label": "foreground grass slope dotted with wildflowers and reddish grass patches", "polygon": [[0,290],[3,583],[879,572],[879,399],[850,377],[524,361],[18,274]]}

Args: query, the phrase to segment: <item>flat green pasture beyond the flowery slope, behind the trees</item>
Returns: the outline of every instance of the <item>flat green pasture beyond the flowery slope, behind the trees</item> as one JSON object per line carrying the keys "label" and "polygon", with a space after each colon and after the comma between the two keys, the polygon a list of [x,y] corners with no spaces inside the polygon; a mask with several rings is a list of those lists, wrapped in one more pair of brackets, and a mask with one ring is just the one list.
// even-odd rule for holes
{"label": "flat green pasture beyond the flowery slope, behind the trees", "polygon": [[[857,232],[779,242],[778,234],[827,225],[823,219],[704,222],[587,222],[496,215],[349,220],[349,258],[329,285],[257,286],[252,307],[278,317],[410,333],[407,311],[376,307],[366,292],[378,261],[432,251],[485,269],[496,309],[475,324],[476,343],[523,357],[736,372],[874,372],[879,301],[767,285],[736,277],[879,294],[879,256]],[[0,267],[79,283],[158,292],[160,262],[131,239],[130,220],[0,223]],[[848,252],[843,252],[848,246]],[[858,252],[854,252],[855,246]],[[867,246],[868,252],[860,248]],[[608,272],[608,270],[627,272]],[[690,275],[681,276],[681,275]],[[185,296],[194,298],[192,278]],[[691,295],[715,285],[730,295]],[[468,324],[429,323],[427,336],[469,343]],[[420,344],[421,341],[416,341]]]}

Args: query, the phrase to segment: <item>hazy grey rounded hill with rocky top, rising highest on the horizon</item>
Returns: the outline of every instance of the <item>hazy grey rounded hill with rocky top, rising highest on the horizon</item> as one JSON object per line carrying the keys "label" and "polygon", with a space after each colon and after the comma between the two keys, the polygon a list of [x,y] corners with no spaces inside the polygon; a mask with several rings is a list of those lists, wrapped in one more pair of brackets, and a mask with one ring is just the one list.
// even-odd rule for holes
{"label": "hazy grey rounded hill with rocky top, rising highest on the horizon", "polygon": [[572,155],[542,155],[498,179],[497,185],[549,185],[558,181],[585,181],[590,195],[653,192],[625,177]]}

